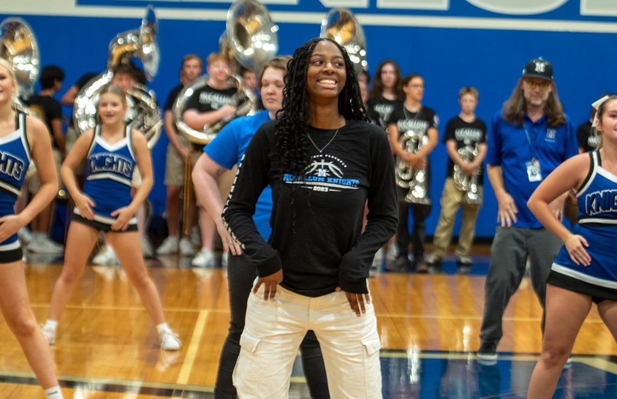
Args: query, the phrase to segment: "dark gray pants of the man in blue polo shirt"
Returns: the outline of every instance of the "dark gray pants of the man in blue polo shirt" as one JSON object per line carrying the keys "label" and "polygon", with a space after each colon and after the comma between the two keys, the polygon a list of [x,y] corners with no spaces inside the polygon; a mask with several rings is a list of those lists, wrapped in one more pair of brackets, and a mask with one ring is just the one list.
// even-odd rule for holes
{"label": "dark gray pants of the man in blue polo shirt", "polygon": [[561,241],[547,229],[497,226],[491,246],[489,273],[484,282],[481,342],[499,343],[503,335],[503,312],[510,297],[521,285],[528,256],[531,263],[531,284],[543,309],[542,329],[544,329],[546,279],[560,248]]}

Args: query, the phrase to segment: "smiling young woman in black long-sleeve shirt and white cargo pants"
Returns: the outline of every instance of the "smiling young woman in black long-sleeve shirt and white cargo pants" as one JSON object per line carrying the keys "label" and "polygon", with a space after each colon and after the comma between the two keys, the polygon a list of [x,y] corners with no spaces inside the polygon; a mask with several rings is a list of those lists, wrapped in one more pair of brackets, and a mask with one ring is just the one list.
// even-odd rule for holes
{"label": "smiling young woman in black long-sleeve shirt and white cargo pants", "polygon": [[[253,136],[223,210],[259,275],[233,376],[240,398],[287,398],[309,329],[321,345],[331,397],[381,398],[381,345],[366,278],[396,228],[394,171],[386,136],[367,121],[352,65],[330,39],[296,50],[283,110]],[[265,242],[252,215],[268,184]]]}

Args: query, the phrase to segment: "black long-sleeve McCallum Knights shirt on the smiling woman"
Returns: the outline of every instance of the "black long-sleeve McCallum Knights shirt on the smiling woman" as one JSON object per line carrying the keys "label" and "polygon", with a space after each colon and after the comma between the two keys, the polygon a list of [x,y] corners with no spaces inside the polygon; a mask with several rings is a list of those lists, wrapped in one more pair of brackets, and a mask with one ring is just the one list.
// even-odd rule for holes
{"label": "black long-sleeve McCallum Knights shirt on the smiling woman", "polygon": [[[311,127],[310,137],[323,152],[312,146],[312,163],[304,178],[296,178],[273,157],[275,123],[264,123],[249,144],[223,221],[260,277],[282,267],[281,286],[301,295],[318,297],[337,286],[367,293],[373,256],[397,226],[394,163],[386,135],[378,126],[350,120],[329,142],[334,130]],[[268,184],[273,208],[266,243],[251,216]],[[367,200],[368,223],[361,234]]]}

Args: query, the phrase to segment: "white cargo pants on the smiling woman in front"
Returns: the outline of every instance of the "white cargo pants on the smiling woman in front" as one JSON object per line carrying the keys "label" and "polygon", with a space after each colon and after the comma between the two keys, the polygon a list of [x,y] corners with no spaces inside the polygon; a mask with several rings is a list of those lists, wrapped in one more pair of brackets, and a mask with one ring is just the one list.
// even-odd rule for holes
{"label": "white cargo pants on the smiling woman in front", "polygon": [[320,343],[332,399],[381,399],[381,342],[373,303],[358,317],[342,291],[312,298],[281,286],[267,301],[263,287],[249,296],[233,373],[238,397],[288,398],[292,365],[308,330]]}

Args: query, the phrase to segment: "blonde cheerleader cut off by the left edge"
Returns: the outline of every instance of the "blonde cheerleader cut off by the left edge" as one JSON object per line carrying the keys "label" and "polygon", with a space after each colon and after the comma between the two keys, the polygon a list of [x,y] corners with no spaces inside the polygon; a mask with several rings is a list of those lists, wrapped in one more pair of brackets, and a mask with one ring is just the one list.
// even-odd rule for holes
{"label": "blonde cheerleader cut off by the left edge", "polygon": [[[0,310],[22,347],[48,399],[62,399],[51,352],[30,307],[17,231],[30,223],[57,194],[58,181],[49,131],[44,123],[15,112],[17,82],[11,65],[0,59]],[[22,212],[14,205],[34,160],[41,188]]]}

